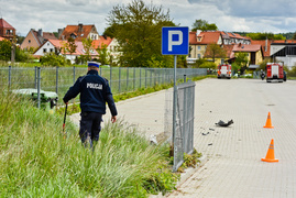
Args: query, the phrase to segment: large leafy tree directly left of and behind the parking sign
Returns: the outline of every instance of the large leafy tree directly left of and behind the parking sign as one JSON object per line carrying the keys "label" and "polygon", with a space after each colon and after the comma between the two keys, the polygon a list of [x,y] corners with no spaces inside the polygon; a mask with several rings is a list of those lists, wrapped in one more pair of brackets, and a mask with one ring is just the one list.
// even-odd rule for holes
{"label": "large leafy tree directly left of and behind the parking sign", "polygon": [[147,67],[153,57],[153,62],[161,62],[157,65],[167,67],[165,63],[171,58],[161,55],[161,36],[162,26],[175,26],[168,11],[133,0],[127,6],[113,7],[107,20],[110,30],[114,29],[111,32],[119,42],[123,66]]}

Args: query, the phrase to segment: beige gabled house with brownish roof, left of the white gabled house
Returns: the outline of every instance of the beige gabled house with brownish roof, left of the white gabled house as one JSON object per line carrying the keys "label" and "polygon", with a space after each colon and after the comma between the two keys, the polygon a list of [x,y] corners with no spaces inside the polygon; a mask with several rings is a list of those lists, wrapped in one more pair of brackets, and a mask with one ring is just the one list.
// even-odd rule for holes
{"label": "beige gabled house with brownish roof, left of the white gabled house", "polygon": [[44,42],[48,40],[57,40],[54,33],[43,32],[42,29],[35,31],[31,29],[21,44],[22,50],[39,48]]}

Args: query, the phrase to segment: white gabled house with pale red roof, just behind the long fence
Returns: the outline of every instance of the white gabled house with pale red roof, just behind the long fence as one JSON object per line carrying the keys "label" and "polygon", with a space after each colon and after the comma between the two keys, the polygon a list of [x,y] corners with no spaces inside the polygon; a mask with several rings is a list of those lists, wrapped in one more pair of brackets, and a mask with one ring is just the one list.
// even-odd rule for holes
{"label": "white gabled house with pale red roof, just behind the long fence", "polygon": [[[86,51],[84,48],[84,44],[80,41],[76,41],[75,44],[77,45],[75,53],[64,52],[62,48],[65,47],[66,41],[63,40],[47,40],[40,48],[34,53],[34,56],[41,57],[44,56],[46,53],[55,53],[58,55],[63,55],[66,59],[69,59],[72,63],[75,63],[77,56],[86,55]],[[98,52],[94,48],[90,50],[90,56],[92,58],[98,56]]]}

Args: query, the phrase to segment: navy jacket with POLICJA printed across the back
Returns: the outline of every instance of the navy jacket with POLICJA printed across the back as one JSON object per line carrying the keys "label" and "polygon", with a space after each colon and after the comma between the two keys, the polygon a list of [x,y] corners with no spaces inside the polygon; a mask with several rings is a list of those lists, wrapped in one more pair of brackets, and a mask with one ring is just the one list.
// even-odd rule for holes
{"label": "navy jacket with POLICJA printed across the back", "polygon": [[81,112],[106,113],[106,102],[112,117],[117,116],[117,108],[108,80],[98,75],[97,70],[89,70],[86,76],[79,77],[69,88],[64,102],[68,102],[80,94]]}

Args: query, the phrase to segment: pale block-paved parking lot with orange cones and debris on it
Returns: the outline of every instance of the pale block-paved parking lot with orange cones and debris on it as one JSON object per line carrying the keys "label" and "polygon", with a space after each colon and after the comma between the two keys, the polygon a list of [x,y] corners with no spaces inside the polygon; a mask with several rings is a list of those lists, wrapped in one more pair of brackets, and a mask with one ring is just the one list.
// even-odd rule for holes
{"label": "pale block-paved parking lot with orange cones and debris on it", "polygon": [[[147,136],[164,131],[165,91],[118,102],[117,107],[119,118],[124,117]],[[263,128],[268,112],[274,129]],[[215,125],[230,119],[234,123],[229,128]],[[272,139],[279,162],[262,162]],[[295,140],[296,81],[197,81],[195,147],[208,161],[166,197],[296,197]]]}

